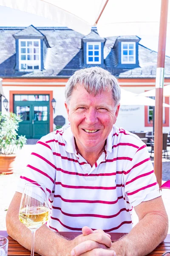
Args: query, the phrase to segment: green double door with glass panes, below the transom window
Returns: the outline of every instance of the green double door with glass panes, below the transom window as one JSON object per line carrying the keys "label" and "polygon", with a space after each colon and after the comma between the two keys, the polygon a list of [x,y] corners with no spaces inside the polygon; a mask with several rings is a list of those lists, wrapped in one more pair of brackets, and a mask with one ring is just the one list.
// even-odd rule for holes
{"label": "green double door with glass panes, below the transom window", "polygon": [[14,101],[14,113],[23,120],[18,135],[40,139],[49,133],[49,101]]}

